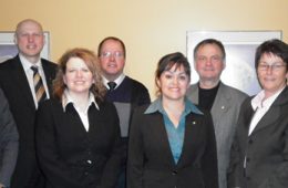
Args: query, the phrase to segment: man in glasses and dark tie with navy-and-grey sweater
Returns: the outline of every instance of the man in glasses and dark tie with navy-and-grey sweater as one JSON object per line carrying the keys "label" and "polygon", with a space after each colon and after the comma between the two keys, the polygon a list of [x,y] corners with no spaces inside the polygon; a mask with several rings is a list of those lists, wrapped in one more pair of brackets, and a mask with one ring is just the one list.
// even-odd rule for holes
{"label": "man in glasses and dark tie with navy-and-grey sweater", "polygon": [[140,82],[124,74],[126,50],[122,40],[107,36],[101,41],[97,49],[103,83],[107,87],[106,98],[116,106],[121,136],[123,140],[122,173],[117,188],[125,186],[125,166],[127,153],[128,125],[131,114],[136,106],[151,103],[147,88]]}

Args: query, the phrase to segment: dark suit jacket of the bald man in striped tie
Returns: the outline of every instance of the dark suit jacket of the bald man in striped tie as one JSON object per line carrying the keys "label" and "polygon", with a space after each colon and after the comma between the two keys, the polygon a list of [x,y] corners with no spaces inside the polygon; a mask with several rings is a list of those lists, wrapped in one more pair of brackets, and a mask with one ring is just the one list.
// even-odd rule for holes
{"label": "dark suit jacket of the bald man in striped tie", "polygon": [[[41,59],[51,96],[56,65]],[[34,148],[35,105],[19,55],[0,64],[0,85],[8,98],[19,132],[19,155],[11,188],[33,188],[38,181],[38,164]],[[37,185],[35,188],[41,188]]]}

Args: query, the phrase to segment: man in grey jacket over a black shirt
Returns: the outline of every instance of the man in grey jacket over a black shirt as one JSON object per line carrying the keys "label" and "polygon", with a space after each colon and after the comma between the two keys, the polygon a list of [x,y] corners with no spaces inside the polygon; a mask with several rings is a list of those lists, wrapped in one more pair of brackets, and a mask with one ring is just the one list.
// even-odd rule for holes
{"label": "man in grey jacket over a black shirt", "polygon": [[217,143],[219,188],[227,188],[226,173],[230,146],[236,129],[240,105],[247,94],[225,85],[220,74],[225,69],[226,52],[220,41],[206,39],[194,49],[194,67],[199,82],[192,85],[186,95],[213,117]]}

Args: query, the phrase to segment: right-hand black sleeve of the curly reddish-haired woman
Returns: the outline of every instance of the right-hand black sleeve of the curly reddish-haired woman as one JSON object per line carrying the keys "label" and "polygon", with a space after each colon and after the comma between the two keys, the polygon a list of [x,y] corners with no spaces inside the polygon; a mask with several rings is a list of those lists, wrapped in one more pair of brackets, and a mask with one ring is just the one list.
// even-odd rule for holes
{"label": "right-hand black sleeve of the curly reddish-haired woman", "polygon": [[107,113],[111,113],[109,117],[113,119],[111,124],[111,130],[113,132],[112,138],[114,139],[114,144],[103,170],[101,188],[114,188],[116,186],[117,177],[121,169],[121,156],[123,155],[123,149],[121,147],[120,121],[116,108],[114,107],[114,105],[112,106],[113,107],[110,108]]}

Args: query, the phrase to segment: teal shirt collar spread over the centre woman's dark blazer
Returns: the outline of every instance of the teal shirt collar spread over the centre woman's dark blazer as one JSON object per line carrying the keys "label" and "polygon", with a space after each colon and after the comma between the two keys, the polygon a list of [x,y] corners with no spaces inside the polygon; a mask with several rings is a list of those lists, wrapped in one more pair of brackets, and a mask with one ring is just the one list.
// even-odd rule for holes
{"label": "teal shirt collar spread over the centre woman's dark blazer", "polygon": [[[155,112],[160,112],[162,114],[165,113],[163,106],[162,106],[162,98],[158,97],[157,100],[155,100],[150,106],[144,112],[144,114],[152,114]],[[189,100],[187,100],[187,97],[185,97],[185,111],[184,114],[189,114],[191,112],[195,113],[195,114],[199,114],[203,115],[203,112],[199,111],[199,108],[197,106],[195,106]]]}

